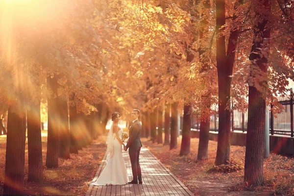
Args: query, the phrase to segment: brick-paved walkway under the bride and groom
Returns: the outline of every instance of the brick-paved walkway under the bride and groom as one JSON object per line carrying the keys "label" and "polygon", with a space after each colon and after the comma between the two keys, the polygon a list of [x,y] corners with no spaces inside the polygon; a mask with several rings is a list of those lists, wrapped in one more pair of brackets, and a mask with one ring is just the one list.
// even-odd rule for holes
{"label": "brick-paved walkway under the bride and groom", "polygon": [[[129,181],[131,181],[132,170],[128,151],[123,151],[123,159],[126,164]],[[96,181],[105,164],[104,156],[93,181]],[[193,196],[193,193],[145,147],[141,148],[140,165],[143,185],[90,185],[86,196]]]}

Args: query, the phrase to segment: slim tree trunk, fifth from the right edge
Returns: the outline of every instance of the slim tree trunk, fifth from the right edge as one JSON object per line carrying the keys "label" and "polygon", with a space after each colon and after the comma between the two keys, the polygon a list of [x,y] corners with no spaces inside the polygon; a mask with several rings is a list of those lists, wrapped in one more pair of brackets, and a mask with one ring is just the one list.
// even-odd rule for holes
{"label": "slim tree trunk, fifth from the right edge", "polygon": [[172,103],[172,118],[171,118],[171,144],[170,149],[177,148],[177,132],[178,132],[178,102]]}

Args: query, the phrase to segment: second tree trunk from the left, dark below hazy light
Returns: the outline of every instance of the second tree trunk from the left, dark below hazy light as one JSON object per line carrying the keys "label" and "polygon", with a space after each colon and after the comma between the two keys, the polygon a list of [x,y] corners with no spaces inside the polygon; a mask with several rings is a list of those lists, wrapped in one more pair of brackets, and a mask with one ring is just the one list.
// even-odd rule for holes
{"label": "second tree trunk from the left, dark below hazy light", "polygon": [[27,108],[28,181],[43,180],[40,101]]}

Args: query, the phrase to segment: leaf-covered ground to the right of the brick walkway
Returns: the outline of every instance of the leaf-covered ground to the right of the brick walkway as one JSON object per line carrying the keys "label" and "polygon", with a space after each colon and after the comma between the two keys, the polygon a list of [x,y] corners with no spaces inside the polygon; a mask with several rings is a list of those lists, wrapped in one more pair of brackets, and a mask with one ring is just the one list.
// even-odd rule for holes
{"label": "leaf-covered ground to the right of the brick walkway", "polygon": [[[264,162],[265,186],[252,188],[243,184],[244,170],[230,173],[208,172],[216,157],[215,141],[209,141],[208,159],[203,161],[196,161],[198,138],[191,139],[191,153],[188,156],[179,156],[181,136],[178,138],[177,148],[173,150],[168,145],[153,144],[145,138],[142,142],[196,196],[294,195],[294,158],[271,153]],[[245,147],[231,146],[231,159],[244,166]]]}

